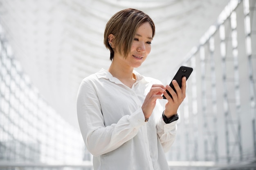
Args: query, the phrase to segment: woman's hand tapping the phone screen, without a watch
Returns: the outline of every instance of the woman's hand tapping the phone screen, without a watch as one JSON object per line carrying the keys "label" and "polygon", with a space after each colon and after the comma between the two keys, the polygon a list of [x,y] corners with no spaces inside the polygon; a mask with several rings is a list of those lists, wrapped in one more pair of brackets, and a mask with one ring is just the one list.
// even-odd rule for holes
{"label": "woman's hand tapping the phone screen, without a watch", "polygon": [[141,106],[141,109],[144,113],[145,118],[149,118],[155,108],[157,99],[162,99],[162,94],[166,90],[164,85],[154,84],[150,88],[150,91],[146,95],[144,103]]}

